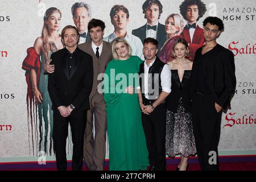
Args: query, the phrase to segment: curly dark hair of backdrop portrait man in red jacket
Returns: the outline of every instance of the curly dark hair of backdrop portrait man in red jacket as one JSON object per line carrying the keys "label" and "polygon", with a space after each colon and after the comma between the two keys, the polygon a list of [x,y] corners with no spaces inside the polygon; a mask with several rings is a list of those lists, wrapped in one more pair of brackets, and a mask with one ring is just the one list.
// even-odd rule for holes
{"label": "curly dark hair of backdrop portrait man in red jacket", "polygon": [[203,15],[205,14],[205,12],[207,11],[205,3],[201,2],[201,0],[185,0],[181,3],[180,5],[180,14],[183,16],[183,18],[185,20],[187,19],[187,7],[190,5],[197,5],[198,7],[198,13],[199,16],[197,18],[197,21],[203,17]]}

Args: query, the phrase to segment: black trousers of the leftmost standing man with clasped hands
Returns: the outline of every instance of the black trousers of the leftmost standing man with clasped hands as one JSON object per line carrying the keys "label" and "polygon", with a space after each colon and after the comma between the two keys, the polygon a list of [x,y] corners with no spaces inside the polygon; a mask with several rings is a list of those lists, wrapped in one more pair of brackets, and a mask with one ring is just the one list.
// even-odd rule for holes
{"label": "black trousers of the leftmost standing man with clasped hands", "polygon": [[53,111],[53,148],[59,171],[67,170],[66,142],[69,123],[73,143],[72,169],[74,171],[82,170],[86,114],[86,110],[81,110],[71,113],[68,117],[62,117],[58,110]]}

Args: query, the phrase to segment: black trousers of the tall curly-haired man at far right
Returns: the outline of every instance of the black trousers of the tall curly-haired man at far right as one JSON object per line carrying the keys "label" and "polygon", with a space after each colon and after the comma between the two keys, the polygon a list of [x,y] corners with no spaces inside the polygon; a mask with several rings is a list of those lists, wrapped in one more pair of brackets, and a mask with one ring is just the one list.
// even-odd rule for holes
{"label": "black trousers of the tall curly-haired man at far right", "polygon": [[192,123],[201,170],[217,171],[222,111],[217,113],[212,94],[196,94],[192,101]]}

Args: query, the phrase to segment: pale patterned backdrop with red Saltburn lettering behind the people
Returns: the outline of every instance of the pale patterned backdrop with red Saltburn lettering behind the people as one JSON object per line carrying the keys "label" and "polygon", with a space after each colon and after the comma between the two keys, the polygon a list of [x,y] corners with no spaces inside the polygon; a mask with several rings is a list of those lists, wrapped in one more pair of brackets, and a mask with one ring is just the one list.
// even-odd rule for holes
{"label": "pale patterned backdrop with red Saltburn lettering behind the people", "polygon": [[[168,15],[179,14],[184,0],[160,0],[163,5],[159,23]],[[0,162],[35,160],[38,156],[54,159],[52,146],[52,111],[50,101],[36,104],[29,89],[31,84],[22,63],[27,49],[42,36],[44,15],[50,7],[61,13],[59,34],[68,24],[75,25],[71,7],[74,0],[1,0],[0,6]],[[129,10],[127,34],[146,24],[142,5],[144,0],[85,0],[91,18],[104,20],[104,37],[114,31],[110,10],[123,5]],[[256,2],[254,0],[202,0],[206,10],[199,13],[197,25],[203,28],[207,16],[224,21],[225,31],[217,42],[235,56],[237,88],[229,110],[222,114],[220,155],[256,154]],[[201,9],[200,9],[201,11]],[[184,26],[187,24],[184,19]],[[43,40],[46,41],[46,40]],[[49,42],[49,40],[48,40]],[[56,45],[58,47],[58,45]],[[41,53],[40,59],[44,55]],[[36,67],[36,65],[35,65]],[[45,83],[39,83],[47,89]],[[45,84],[45,85],[44,85]],[[31,85],[30,85],[31,86]],[[45,90],[46,91],[46,90]],[[47,92],[47,91],[46,91]],[[106,142],[106,159],[108,141]],[[67,154],[72,155],[72,138],[67,139]]]}

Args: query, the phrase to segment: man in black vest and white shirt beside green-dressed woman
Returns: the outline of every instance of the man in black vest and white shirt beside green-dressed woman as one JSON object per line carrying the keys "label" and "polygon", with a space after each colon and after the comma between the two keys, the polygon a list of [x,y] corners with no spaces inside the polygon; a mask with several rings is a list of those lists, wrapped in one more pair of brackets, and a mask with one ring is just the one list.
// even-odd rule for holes
{"label": "man in black vest and white shirt beside green-dressed woman", "polygon": [[166,107],[164,100],[171,92],[171,71],[157,56],[158,41],[143,42],[144,63],[139,66],[139,105],[146,137],[150,170],[166,170]]}

